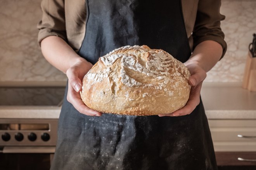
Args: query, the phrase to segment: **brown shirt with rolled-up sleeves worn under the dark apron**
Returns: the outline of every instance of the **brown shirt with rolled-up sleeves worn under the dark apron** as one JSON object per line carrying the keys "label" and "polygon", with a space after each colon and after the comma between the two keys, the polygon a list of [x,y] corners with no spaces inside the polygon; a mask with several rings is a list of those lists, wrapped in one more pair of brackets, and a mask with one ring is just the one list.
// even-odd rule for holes
{"label": "brown shirt with rolled-up sleeves worn under the dark apron", "polygon": [[[220,21],[221,0],[181,0],[185,29],[191,50],[206,40],[213,40],[227,50]],[[38,43],[47,36],[59,36],[76,51],[85,36],[86,0],[42,0],[43,16],[38,23]],[[222,55],[222,57],[223,57]]]}

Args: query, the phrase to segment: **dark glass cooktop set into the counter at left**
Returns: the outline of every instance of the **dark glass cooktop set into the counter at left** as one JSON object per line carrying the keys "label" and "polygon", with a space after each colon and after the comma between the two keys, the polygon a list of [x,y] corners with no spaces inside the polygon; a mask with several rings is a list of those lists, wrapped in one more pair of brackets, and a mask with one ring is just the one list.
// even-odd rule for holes
{"label": "dark glass cooktop set into the counter at left", "polygon": [[64,87],[0,87],[0,106],[60,106]]}

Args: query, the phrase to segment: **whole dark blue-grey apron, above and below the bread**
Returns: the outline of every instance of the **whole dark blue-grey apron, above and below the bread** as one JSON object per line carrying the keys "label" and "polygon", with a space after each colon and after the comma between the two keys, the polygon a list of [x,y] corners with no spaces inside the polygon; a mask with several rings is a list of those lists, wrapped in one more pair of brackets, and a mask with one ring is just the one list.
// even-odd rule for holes
{"label": "whole dark blue-grey apron, above and below the bread", "polygon": [[[125,45],[161,48],[181,62],[190,57],[180,0],[87,0],[86,5],[79,55],[92,64]],[[64,97],[51,170],[216,169],[202,102],[181,117],[90,117]]]}

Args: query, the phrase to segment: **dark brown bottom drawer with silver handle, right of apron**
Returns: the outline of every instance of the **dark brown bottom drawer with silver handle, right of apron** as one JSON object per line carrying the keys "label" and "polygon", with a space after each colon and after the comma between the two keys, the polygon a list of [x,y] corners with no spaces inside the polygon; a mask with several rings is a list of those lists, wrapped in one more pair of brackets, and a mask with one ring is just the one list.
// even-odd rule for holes
{"label": "dark brown bottom drawer with silver handle, right of apron", "polygon": [[256,152],[215,152],[215,155],[218,166],[256,165]]}

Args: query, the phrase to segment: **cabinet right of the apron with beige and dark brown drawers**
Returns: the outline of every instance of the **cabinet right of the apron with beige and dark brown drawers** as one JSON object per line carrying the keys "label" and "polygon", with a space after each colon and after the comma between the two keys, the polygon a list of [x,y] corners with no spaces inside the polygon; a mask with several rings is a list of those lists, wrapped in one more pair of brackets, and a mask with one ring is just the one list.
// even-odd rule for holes
{"label": "cabinet right of the apron with beige and dark brown drawers", "polygon": [[208,122],[218,165],[256,165],[256,119]]}

